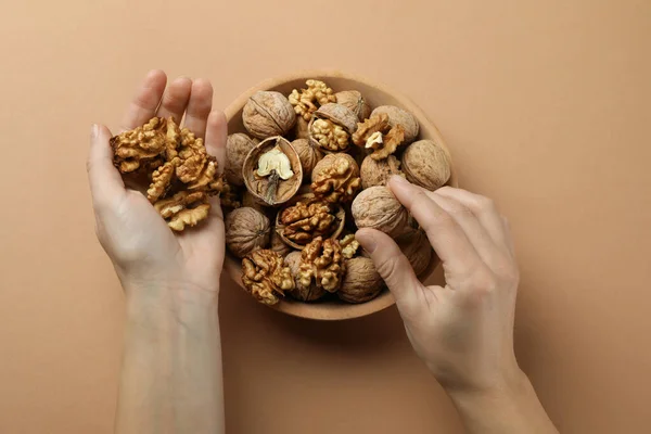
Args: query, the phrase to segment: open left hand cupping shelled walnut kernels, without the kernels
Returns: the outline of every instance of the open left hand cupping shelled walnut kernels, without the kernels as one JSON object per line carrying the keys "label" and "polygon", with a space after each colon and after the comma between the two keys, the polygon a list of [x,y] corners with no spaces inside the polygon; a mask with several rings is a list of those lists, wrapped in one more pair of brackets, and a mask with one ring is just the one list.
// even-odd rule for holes
{"label": "open left hand cupping shelled walnut kernels, without the kernels", "polygon": [[[184,113],[184,127],[205,139],[207,152],[217,157],[221,170],[227,124],[221,112],[212,111],[213,87],[204,79],[178,78],[167,89],[166,82],[161,71],[148,74],[122,129],[132,129],[154,116],[173,116],[179,123]],[[93,126],[87,168],[98,239],[125,291],[190,288],[216,294],[225,255],[219,199],[210,200],[207,221],[174,233],[142,193],[125,187],[113,166],[111,136],[106,127]]]}

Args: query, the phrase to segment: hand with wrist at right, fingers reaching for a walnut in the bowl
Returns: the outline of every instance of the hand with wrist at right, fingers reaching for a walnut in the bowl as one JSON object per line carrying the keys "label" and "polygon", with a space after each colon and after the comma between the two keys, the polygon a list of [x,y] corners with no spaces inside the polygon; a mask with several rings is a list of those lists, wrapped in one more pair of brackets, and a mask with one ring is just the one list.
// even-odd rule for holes
{"label": "hand with wrist at right, fingers reaching for a walnut in the bowl", "polygon": [[407,335],[471,433],[557,433],[519,368],[513,319],[519,283],[507,220],[464,190],[435,192],[393,177],[388,187],[442,259],[445,286],[425,286],[385,233],[356,237],[396,298]]}

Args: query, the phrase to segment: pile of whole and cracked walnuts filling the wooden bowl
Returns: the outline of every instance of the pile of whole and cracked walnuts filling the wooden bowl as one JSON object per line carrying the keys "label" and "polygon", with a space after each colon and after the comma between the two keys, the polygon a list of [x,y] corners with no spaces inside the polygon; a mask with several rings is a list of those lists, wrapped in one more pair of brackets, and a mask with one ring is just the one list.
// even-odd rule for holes
{"label": "pile of whole and cracked walnuts filling the wooden bowl", "polygon": [[378,296],[384,282],[354,235],[363,227],[394,238],[417,275],[427,269],[427,238],[385,186],[398,175],[436,190],[451,163],[445,148],[418,140],[411,113],[372,110],[359,91],[309,79],[289,95],[256,92],[242,120],[227,142],[221,206],[227,246],[257,301]]}

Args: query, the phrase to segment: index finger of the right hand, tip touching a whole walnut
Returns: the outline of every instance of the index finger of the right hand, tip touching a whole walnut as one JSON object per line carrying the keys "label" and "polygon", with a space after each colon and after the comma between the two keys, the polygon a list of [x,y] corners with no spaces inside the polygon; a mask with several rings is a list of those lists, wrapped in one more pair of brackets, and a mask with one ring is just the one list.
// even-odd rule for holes
{"label": "index finger of the right hand, tip touching a whole walnut", "polygon": [[422,189],[397,176],[391,178],[388,187],[427,233],[432,247],[446,267],[465,273],[477,266],[480,256],[459,224]]}

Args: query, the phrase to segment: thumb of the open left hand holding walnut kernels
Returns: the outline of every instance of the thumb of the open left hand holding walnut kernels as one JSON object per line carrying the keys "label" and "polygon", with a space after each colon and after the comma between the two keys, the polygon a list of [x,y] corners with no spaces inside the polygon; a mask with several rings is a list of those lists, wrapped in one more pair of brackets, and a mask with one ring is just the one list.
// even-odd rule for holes
{"label": "thumb of the open left hand holding walnut kernels", "polygon": [[86,168],[95,209],[115,203],[125,193],[125,183],[113,166],[113,152],[108,140],[111,131],[102,125],[93,125]]}

